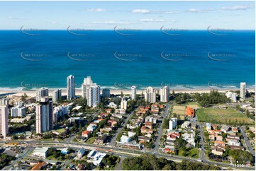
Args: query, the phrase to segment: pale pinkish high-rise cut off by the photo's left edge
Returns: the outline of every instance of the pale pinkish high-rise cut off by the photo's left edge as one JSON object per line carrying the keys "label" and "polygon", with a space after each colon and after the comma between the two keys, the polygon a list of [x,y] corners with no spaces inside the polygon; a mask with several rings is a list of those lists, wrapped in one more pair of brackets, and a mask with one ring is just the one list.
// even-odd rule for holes
{"label": "pale pinkish high-rise cut off by the photo's left edge", "polygon": [[0,100],[0,135],[6,138],[8,129],[8,105],[7,99]]}

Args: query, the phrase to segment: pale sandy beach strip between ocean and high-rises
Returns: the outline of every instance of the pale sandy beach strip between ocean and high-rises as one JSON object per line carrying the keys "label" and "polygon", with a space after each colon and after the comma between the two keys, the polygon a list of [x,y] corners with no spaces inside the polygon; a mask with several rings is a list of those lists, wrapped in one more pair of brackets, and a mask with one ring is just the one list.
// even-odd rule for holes
{"label": "pale sandy beach strip between ocean and high-rises", "polygon": [[[49,96],[52,96],[52,91],[56,90],[57,88],[49,88]],[[62,90],[62,95],[67,95],[67,90],[65,88],[59,88]],[[175,93],[210,93],[211,90],[218,90],[220,93],[225,93],[226,91],[230,90],[240,90],[239,88],[225,88],[225,89],[214,89],[214,88],[197,88],[197,89],[171,89],[169,90],[169,93],[172,93],[172,90],[174,90]],[[247,89],[249,92],[254,92],[255,89],[249,88]],[[123,92],[124,95],[130,95],[131,90],[127,89],[120,89],[120,90],[111,90],[110,94],[113,95],[120,95],[121,92]],[[144,90],[136,90],[136,94],[144,93]],[[29,97],[35,97],[35,90],[1,90],[0,89],[0,95],[4,96],[7,95],[8,97],[21,97],[26,93]],[[102,93],[102,90],[101,90]],[[82,95],[81,89],[76,89],[76,95]]]}

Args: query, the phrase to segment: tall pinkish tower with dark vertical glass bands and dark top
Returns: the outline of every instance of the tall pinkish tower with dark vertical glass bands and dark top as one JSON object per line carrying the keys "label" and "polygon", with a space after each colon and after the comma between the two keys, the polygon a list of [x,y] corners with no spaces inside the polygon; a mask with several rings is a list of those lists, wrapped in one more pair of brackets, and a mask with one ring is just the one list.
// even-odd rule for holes
{"label": "tall pinkish tower with dark vertical glass bands and dark top", "polygon": [[53,129],[53,104],[48,97],[42,97],[35,106],[35,131],[37,134]]}

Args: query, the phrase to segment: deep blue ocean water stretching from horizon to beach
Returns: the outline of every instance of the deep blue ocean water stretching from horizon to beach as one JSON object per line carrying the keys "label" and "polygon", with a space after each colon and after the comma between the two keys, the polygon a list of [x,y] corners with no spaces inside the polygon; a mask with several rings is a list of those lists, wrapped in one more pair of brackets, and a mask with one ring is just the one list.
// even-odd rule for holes
{"label": "deep blue ocean water stretching from horizon to beach", "polygon": [[213,35],[188,30],[166,35],[143,30],[118,35],[96,30],[72,35],[48,30],[38,36],[20,30],[0,31],[0,89],[65,88],[66,78],[83,78],[103,88],[170,86],[238,88],[240,82],[255,86],[255,30]]}

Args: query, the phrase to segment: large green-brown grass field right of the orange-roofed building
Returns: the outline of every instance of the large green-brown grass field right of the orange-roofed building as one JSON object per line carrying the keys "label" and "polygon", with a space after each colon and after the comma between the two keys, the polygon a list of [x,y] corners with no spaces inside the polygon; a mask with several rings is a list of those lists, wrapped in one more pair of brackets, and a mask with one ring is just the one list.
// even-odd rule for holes
{"label": "large green-brown grass field right of the orange-roofed building", "polygon": [[252,119],[246,117],[244,114],[238,112],[237,110],[228,109],[218,109],[213,107],[201,108],[196,110],[196,115],[199,122],[211,122],[211,123],[221,123],[221,124],[235,124],[235,120],[238,123],[254,124]]}

